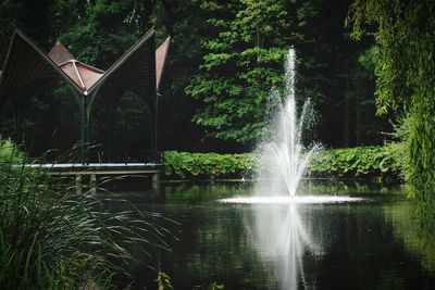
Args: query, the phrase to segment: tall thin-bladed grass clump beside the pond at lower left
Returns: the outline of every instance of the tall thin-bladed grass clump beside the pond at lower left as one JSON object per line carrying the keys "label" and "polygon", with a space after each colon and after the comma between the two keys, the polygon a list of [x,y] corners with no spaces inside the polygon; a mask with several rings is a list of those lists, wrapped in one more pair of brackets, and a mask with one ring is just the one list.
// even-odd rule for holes
{"label": "tall thin-bladed grass clump beside the pond at lower left", "polygon": [[167,231],[152,222],[158,214],[107,212],[26,162],[0,141],[0,289],[113,288],[112,277],[139,262],[137,251],[151,259],[167,250]]}

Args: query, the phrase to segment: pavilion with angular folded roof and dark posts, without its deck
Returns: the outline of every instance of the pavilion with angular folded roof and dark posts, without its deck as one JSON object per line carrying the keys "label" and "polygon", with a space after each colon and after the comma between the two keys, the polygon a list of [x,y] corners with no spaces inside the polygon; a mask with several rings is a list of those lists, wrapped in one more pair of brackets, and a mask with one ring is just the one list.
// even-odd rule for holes
{"label": "pavilion with angular folded roof and dark posts, without its deck", "polygon": [[107,146],[110,148],[117,104],[125,91],[132,91],[149,111],[151,131],[144,138],[149,138],[149,160],[156,161],[158,94],[169,46],[170,38],[166,38],[156,50],[154,30],[151,29],[109,70],[102,71],[76,60],[60,41],[46,54],[24,33],[15,30],[3,71],[0,71],[0,117],[4,104],[11,101],[17,136],[22,136],[21,108],[25,97],[59,79],[64,80],[80,108],[82,162],[89,164],[90,112],[96,97],[101,97],[108,113]]}

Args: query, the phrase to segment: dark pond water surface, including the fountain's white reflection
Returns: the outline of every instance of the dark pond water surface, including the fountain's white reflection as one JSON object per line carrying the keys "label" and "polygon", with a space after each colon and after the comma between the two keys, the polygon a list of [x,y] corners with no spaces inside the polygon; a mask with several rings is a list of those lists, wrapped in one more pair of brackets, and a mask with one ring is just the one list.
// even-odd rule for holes
{"label": "dark pond water surface, including the fountain's white reflection", "polygon": [[[414,204],[402,190],[311,181],[299,191],[365,200],[227,204],[217,200],[249,196],[252,185],[220,182],[120,197],[179,223],[169,226],[178,239],[167,238],[172,253],[160,252],[156,265],[174,289],[214,281],[225,289],[435,289],[434,242],[413,220]],[[156,272],[132,272],[135,287],[157,289]]]}

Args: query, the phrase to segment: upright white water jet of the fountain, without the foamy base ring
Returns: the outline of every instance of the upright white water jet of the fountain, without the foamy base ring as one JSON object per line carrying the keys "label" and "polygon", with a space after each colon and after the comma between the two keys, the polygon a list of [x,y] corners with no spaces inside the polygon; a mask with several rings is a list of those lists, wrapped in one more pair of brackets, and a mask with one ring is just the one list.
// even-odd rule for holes
{"label": "upright white water jet of the fountain, without the foamy base ring", "polygon": [[[295,197],[307,163],[318,148],[316,146],[304,148],[301,142],[307,113],[312,108],[310,100],[307,100],[298,117],[295,76],[296,53],[290,49],[285,63],[285,86],[282,93],[276,88],[271,90],[266,112],[269,133],[256,150],[261,164],[257,178],[260,182],[258,192],[261,193],[279,192]],[[264,189],[264,184],[269,189]]]}

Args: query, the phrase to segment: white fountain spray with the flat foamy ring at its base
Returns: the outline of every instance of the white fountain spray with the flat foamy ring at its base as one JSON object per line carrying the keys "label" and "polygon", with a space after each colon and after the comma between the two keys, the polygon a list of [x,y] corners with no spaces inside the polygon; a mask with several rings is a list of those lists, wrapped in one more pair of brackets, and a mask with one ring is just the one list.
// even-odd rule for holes
{"label": "white fountain spray with the flat foamy ring at its base", "polygon": [[[229,203],[339,203],[361,201],[360,198],[337,196],[298,196],[298,185],[307,163],[318,144],[304,148],[302,133],[308,116],[312,115],[310,100],[306,100],[298,117],[295,98],[296,53],[291,48],[285,63],[285,84],[273,88],[269,96],[265,122],[269,125],[256,154],[260,157],[260,171],[253,197],[222,199]],[[283,99],[285,99],[283,103]]]}

